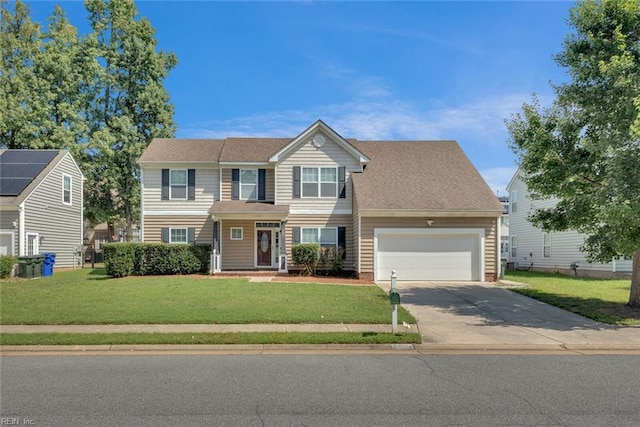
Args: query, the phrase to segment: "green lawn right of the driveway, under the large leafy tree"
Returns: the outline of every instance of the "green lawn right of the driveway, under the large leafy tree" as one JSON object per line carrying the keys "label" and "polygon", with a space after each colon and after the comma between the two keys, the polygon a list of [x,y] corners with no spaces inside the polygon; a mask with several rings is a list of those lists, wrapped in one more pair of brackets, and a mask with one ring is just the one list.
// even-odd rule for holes
{"label": "green lawn right of the driveway, under the large leafy tree", "polygon": [[627,306],[630,280],[590,279],[535,271],[507,271],[506,280],[526,283],[513,291],[600,322],[640,325],[640,310]]}

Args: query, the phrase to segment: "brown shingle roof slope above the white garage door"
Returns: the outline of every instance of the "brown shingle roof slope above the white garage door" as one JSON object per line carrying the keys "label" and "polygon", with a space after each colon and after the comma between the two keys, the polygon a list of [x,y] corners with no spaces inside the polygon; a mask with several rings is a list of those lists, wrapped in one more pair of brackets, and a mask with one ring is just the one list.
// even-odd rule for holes
{"label": "brown shingle roof slope above the white garage door", "polygon": [[370,141],[352,174],[359,209],[496,211],[502,205],[455,141]]}

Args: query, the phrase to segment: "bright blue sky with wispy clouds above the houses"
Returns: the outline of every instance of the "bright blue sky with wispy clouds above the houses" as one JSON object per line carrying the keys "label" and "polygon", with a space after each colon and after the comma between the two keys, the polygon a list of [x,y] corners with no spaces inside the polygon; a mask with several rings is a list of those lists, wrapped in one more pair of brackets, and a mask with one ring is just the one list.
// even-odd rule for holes
{"label": "bright blue sky with wispy clouds above the houses", "polygon": [[[81,33],[82,2],[60,4]],[[549,84],[569,1],[139,1],[158,48],[177,137],[294,137],[322,119],[347,138],[454,139],[494,192],[516,169],[504,120]]]}

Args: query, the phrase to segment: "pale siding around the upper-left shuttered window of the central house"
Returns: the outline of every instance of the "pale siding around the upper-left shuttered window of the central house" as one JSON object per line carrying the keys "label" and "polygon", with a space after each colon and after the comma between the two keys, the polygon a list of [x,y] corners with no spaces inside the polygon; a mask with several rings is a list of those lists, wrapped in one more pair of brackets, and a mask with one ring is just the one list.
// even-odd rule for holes
{"label": "pale siding around the upper-left shuttered window of the central house", "polygon": [[[162,200],[162,169],[195,169],[195,200]],[[171,164],[146,166],[143,169],[144,214],[155,212],[208,212],[215,200],[220,200],[220,172],[217,166]],[[147,219],[145,218],[145,221]],[[146,240],[146,236],[145,236]]]}

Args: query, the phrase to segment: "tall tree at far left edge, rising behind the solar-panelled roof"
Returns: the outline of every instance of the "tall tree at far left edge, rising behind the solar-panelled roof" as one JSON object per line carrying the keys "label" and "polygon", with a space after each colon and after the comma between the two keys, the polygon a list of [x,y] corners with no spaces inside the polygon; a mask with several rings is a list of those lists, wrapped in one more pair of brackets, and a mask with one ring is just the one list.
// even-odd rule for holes
{"label": "tall tree at far left edge, rising behind the solar-panelled roof", "polygon": [[0,0],[0,141],[7,148],[31,148],[45,106],[32,95],[42,84],[35,60],[42,50],[42,30],[20,0]]}

